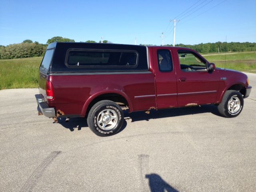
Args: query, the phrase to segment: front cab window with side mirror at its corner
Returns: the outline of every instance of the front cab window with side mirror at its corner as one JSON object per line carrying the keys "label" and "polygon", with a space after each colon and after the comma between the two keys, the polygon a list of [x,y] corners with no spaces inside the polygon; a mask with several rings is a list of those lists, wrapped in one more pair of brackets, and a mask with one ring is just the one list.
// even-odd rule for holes
{"label": "front cab window with side mirror at its corner", "polygon": [[206,62],[194,52],[178,51],[180,68],[184,72],[207,71]]}

